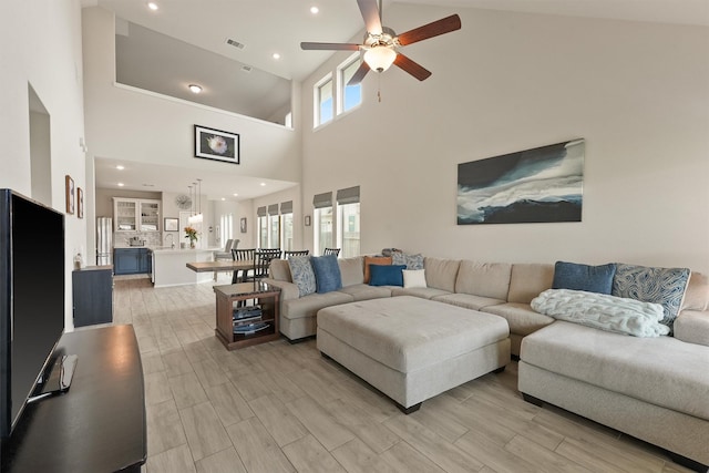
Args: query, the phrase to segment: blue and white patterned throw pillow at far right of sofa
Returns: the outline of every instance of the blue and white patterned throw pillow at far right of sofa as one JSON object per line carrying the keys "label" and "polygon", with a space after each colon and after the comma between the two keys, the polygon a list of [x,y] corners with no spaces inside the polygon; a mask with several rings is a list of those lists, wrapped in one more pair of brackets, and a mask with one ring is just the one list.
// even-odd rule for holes
{"label": "blue and white patterned throw pillow at far right of sofa", "polygon": [[672,330],[672,323],[685,297],[689,274],[687,268],[650,268],[618,264],[612,294],[661,305],[665,318],[660,323]]}

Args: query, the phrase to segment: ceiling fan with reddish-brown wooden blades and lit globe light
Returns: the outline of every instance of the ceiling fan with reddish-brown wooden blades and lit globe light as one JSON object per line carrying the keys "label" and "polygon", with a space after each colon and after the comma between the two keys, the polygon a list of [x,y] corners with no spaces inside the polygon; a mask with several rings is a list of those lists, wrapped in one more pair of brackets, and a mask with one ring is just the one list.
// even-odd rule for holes
{"label": "ceiling fan with reddish-brown wooden blades and lit globe light", "polygon": [[364,51],[364,60],[348,82],[348,85],[360,83],[370,70],[383,72],[391,64],[404,70],[419,81],[423,81],[431,75],[431,71],[403,55],[397,49],[461,29],[460,17],[452,14],[423,27],[414,28],[405,33],[397,34],[391,28],[382,27],[381,8],[377,4],[377,0],[357,0],[357,4],[367,27],[363,44],[300,43],[300,48],[304,50]]}

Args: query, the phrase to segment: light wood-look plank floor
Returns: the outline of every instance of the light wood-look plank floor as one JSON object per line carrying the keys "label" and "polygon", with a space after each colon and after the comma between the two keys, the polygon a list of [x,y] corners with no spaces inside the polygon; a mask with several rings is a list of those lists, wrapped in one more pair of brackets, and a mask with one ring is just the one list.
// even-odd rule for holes
{"label": "light wood-look plank floor", "polygon": [[688,471],[617,431],[524,402],[516,362],[404,415],[315,340],[225,350],[214,304],[208,284],[115,279],[114,322],[135,326],[143,359],[144,472]]}

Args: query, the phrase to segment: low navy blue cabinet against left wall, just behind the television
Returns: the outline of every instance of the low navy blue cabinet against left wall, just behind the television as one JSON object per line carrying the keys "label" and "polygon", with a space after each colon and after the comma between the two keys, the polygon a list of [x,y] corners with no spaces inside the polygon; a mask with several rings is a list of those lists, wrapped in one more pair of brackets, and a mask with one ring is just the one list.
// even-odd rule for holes
{"label": "low navy blue cabinet against left wall, just behind the television", "polygon": [[88,266],[72,271],[74,327],[113,321],[113,266]]}

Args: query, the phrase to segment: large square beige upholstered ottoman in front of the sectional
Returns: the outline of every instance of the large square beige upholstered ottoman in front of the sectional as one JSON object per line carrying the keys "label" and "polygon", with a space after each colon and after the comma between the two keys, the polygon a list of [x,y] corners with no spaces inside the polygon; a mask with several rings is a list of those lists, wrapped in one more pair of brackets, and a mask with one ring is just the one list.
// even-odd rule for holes
{"label": "large square beige upholstered ottoman in front of the sectional", "polygon": [[507,321],[412,296],[318,311],[317,346],[404,413],[510,361]]}

